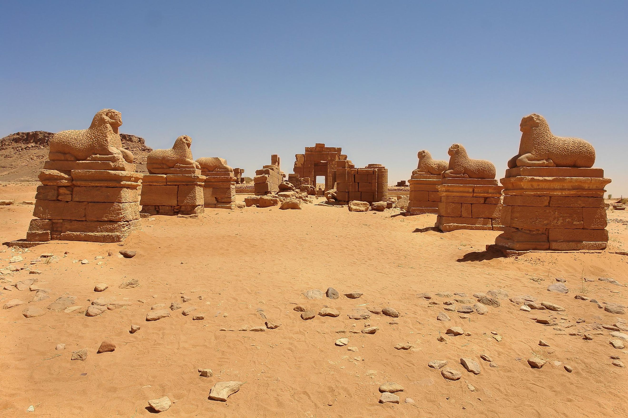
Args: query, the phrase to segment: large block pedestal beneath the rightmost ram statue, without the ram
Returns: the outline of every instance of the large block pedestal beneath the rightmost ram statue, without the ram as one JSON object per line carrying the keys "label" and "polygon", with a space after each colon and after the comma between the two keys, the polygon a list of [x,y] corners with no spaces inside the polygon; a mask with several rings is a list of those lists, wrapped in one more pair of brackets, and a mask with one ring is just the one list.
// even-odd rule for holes
{"label": "large block pedestal beneath the rightmost ram statue, without the ram", "polygon": [[602,169],[506,170],[502,224],[495,244],[517,251],[605,249],[609,241]]}

